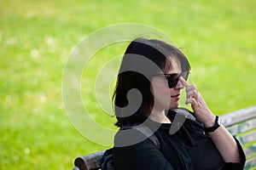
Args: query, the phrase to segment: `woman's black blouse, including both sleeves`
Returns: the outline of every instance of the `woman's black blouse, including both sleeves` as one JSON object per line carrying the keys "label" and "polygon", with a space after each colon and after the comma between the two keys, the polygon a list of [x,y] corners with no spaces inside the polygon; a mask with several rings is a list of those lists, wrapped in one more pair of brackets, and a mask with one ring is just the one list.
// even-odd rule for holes
{"label": "woman's black blouse, including both sleeves", "polygon": [[[168,117],[173,121],[175,113]],[[201,122],[186,119],[176,133],[170,133],[173,123],[149,121],[148,127],[159,127],[154,136],[159,140],[160,147],[152,139],[145,138],[137,144],[124,147],[113,147],[113,159],[117,169],[243,169],[246,161],[241,144],[236,139],[241,162],[224,162],[208,133],[203,131]],[[141,138],[144,134],[132,133],[128,140]],[[127,140],[127,139],[126,139]],[[116,141],[115,141],[116,142]]]}

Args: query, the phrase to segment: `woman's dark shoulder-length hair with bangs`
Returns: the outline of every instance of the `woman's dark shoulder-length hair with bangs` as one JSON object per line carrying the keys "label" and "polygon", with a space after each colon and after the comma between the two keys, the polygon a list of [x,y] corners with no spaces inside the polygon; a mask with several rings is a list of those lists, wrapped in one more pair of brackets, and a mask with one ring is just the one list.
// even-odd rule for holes
{"label": "woman's dark shoulder-length hair with bangs", "polygon": [[[114,110],[118,120],[116,126],[141,123],[148,118],[154,105],[154,95],[150,91],[151,77],[157,72],[165,72],[166,63],[170,62],[168,60],[170,57],[176,57],[180,61],[182,71],[190,70],[189,61],[185,55],[178,48],[166,42],[137,38],[128,45],[113,93]],[[142,59],[144,59],[143,62],[140,62]],[[157,65],[160,71],[148,65],[147,59]],[[134,107],[137,105],[139,96],[127,97],[129,91],[134,88],[140,92],[142,97],[142,103],[138,109]]]}

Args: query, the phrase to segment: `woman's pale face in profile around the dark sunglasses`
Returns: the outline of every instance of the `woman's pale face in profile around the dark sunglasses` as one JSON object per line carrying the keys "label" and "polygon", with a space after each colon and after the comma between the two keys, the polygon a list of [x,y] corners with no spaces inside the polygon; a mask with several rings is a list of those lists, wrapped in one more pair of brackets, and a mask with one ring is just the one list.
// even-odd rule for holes
{"label": "woman's pale face in profile around the dark sunglasses", "polygon": [[[172,65],[166,66],[165,74],[182,72],[180,62],[176,59],[169,59]],[[178,81],[176,87],[169,88],[166,77],[152,77],[151,93],[154,95],[154,107],[159,110],[172,110],[177,108],[180,96],[180,90],[184,88],[183,84]]]}

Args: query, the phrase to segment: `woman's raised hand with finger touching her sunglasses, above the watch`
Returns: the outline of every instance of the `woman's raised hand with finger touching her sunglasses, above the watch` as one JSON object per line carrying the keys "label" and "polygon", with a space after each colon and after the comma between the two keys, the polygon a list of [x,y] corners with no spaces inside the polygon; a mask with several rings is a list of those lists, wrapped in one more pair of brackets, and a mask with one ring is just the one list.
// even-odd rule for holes
{"label": "woman's raised hand with finger touching her sunglasses, above the watch", "polygon": [[186,88],[186,105],[191,104],[196,118],[205,124],[206,127],[212,127],[215,122],[215,115],[208,108],[207,103],[202,98],[195,85],[189,85],[183,77],[180,78],[183,86]]}

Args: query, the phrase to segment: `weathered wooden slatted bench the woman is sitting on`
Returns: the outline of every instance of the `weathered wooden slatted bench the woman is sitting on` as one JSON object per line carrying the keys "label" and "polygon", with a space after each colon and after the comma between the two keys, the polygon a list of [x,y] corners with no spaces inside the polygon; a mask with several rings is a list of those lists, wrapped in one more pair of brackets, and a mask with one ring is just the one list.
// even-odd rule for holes
{"label": "weathered wooden slatted bench the woman is sitting on", "polygon": [[[224,126],[241,142],[247,161],[244,169],[256,167],[256,105],[225,114]],[[75,159],[73,170],[92,170],[101,168],[101,159],[105,150],[79,156]],[[253,169],[254,169],[253,168]],[[256,168],[255,168],[256,169]]]}

